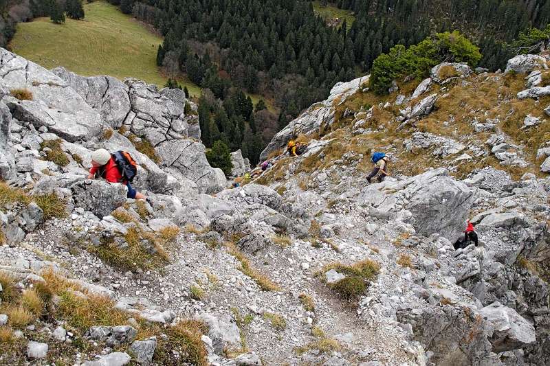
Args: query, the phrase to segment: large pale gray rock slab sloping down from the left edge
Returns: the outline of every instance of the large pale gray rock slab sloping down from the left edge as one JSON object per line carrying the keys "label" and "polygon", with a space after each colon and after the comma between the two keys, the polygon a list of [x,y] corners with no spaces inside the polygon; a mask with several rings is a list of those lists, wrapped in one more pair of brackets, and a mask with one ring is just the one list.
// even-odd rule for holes
{"label": "large pale gray rock slab sloping down from the left edge", "polygon": [[4,98],[19,121],[30,122],[36,129],[45,127],[67,141],[87,140],[100,133],[100,115],[54,73],[0,49],[0,78],[8,89],[32,92],[33,100]]}

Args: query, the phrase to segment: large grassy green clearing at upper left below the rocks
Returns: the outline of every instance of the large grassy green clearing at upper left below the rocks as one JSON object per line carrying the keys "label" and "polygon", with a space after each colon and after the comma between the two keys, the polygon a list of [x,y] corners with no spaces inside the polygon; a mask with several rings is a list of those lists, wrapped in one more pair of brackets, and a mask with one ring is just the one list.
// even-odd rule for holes
{"label": "large grassy green clearing at upper left below the rocks", "polygon": [[[84,4],[86,18],[67,18],[56,25],[49,18],[19,23],[10,49],[47,69],[63,66],[83,76],[107,74],[139,78],[162,87],[166,78],[156,65],[162,37],[104,1]],[[192,95],[200,89],[179,80]]]}

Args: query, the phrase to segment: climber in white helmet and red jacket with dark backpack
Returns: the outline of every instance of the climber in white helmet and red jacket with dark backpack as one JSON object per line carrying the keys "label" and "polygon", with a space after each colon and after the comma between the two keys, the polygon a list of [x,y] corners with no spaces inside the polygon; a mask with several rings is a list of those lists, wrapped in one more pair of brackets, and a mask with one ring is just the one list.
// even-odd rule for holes
{"label": "climber in white helmet and red jacket with dark backpack", "polygon": [[98,149],[91,154],[91,169],[88,179],[103,178],[109,183],[122,183],[128,187],[126,197],[137,200],[148,200],[143,194],[133,189],[130,181],[137,173],[137,164],[128,152],[117,151],[110,154],[105,149]]}

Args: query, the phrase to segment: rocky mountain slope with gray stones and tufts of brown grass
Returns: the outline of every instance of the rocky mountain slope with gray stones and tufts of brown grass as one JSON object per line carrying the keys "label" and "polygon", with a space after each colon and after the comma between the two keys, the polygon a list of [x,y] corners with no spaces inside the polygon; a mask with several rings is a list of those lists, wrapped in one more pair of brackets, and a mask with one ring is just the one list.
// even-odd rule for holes
{"label": "rocky mountain slope with gray stones and tufts of brown grass", "polygon": [[[224,189],[177,91],[1,53],[0,363],[550,362],[544,56],[337,84]],[[88,181],[95,148],[131,152],[152,205]],[[366,185],[373,149],[391,176]]]}

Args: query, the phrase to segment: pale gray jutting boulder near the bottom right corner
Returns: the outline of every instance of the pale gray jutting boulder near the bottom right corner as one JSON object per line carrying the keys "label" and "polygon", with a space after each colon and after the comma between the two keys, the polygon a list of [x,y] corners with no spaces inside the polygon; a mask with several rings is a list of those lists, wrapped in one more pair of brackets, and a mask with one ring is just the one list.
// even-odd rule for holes
{"label": "pale gray jutting boulder near the bottom right corner", "polygon": [[535,328],[516,310],[495,302],[479,310],[483,318],[494,325],[489,339],[494,352],[505,352],[536,342]]}

